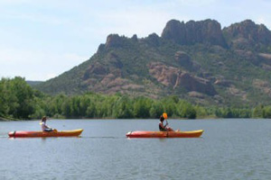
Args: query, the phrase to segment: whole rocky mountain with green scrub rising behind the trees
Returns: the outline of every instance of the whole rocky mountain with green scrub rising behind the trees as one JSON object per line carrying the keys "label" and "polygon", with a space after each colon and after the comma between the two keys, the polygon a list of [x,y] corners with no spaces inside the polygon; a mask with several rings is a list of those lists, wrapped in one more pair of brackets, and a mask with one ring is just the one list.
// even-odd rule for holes
{"label": "whole rocky mountain with green scrub rising behind the trees", "polygon": [[192,103],[271,100],[271,32],[250,20],[221,30],[214,20],[171,20],[161,36],[110,34],[89,60],[36,88],[49,94],[177,95]]}

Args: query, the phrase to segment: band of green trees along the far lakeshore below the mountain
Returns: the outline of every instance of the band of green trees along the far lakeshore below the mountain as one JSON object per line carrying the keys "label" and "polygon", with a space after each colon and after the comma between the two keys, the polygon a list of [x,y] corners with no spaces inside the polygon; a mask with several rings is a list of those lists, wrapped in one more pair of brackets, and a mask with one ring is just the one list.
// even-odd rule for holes
{"label": "band of green trees along the far lakeshore below the mountain", "polygon": [[188,103],[177,96],[152,99],[126,94],[49,95],[33,89],[24,78],[2,78],[0,81],[0,119],[53,118],[159,118],[167,112],[170,118],[271,118],[271,106],[255,108],[204,107]]}

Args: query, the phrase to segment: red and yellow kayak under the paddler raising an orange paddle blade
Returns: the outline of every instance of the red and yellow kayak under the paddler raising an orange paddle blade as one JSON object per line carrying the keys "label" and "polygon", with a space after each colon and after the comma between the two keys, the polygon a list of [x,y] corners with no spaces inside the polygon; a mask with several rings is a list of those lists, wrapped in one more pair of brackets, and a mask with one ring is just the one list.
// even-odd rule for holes
{"label": "red and yellow kayak under the paddler raising an orange paddle blade", "polygon": [[129,131],[127,138],[199,138],[203,130],[191,131]]}

